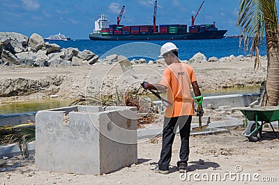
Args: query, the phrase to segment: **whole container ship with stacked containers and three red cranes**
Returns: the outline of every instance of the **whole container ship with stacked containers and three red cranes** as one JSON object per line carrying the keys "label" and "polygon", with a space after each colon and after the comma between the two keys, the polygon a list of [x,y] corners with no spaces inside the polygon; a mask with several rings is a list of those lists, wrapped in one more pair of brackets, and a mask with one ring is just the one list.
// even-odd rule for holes
{"label": "whole container ship with stacked containers and three red cranes", "polygon": [[[202,2],[202,5],[204,1]],[[199,7],[199,10],[202,8]],[[201,39],[221,39],[227,30],[218,30],[213,24],[195,25],[195,18],[199,13],[197,11],[195,17],[192,16],[192,24],[187,31],[187,24],[163,24],[156,26],[156,10],[157,1],[155,1],[153,13],[153,25],[120,25],[123,15],[122,7],[117,24],[110,24],[105,15],[100,15],[95,22],[95,29],[89,34],[91,40],[201,40]]]}

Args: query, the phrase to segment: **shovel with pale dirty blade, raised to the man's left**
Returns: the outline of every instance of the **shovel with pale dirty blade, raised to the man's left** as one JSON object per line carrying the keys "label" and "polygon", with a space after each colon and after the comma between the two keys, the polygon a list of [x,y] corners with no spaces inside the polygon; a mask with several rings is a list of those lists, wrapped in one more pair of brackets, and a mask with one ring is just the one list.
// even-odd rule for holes
{"label": "shovel with pale dirty blade, raised to the man's left", "polygon": [[[139,79],[139,77],[134,75],[135,71],[133,69],[132,64],[130,64],[130,61],[128,59],[122,59],[121,61],[119,61],[119,64],[122,68],[123,73],[128,72],[135,79]],[[172,103],[170,103],[166,99],[162,98],[162,96],[160,96],[160,94],[156,93],[156,91],[153,91],[152,89],[149,89],[149,91],[151,91],[152,94],[154,94],[157,98],[159,98],[162,101],[163,105],[165,105],[166,108],[169,108],[172,106]]]}

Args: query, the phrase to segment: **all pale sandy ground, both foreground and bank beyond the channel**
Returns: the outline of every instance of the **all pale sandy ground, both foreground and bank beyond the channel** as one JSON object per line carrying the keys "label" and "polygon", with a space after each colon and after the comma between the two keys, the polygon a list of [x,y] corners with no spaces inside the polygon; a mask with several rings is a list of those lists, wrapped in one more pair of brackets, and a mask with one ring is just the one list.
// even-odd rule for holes
{"label": "all pale sandy ground, both foreground and bank beyond the channel", "polygon": [[[263,62],[263,67],[259,71],[254,71],[253,65],[252,60],[191,64],[202,90],[261,84],[266,78],[266,62]],[[158,82],[164,69],[163,64],[133,67],[140,79],[149,82]],[[0,79],[16,77],[39,79],[49,75],[62,75],[65,80],[56,93],[59,98],[77,98],[80,94],[91,95],[100,91],[107,93],[115,84],[124,89],[131,84],[139,87],[139,80],[136,81],[129,75],[123,75],[118,65],[47,68],[8,66],[1,67],[0,74]],[[15,99],[22,101],[44,97],[47,96],[38,92],[29,96],[1,97],[1,101]],[[236,127],[232,128],[230,133],[190,137],[188,178],[185,181],[181,180],[174,166],[179,159],[179,137],[176,137],[169,175],[156,174],[151,170],[160,156],[162,138],[157,138],[156,142],[139,141],[138,163],[104,175],[77,175],[38,170],[34,163],[34,156],[31,156],[29,161],[23,160],[21,156],[0,159],[1,168],[19,164],[15,169],[0,172],[0,184],[216,184],[216,182],[220,184],[276,184],[276,182],[263,182],[263,180],[265,178],[269,181],[279,181],[279,140],[274,137],[273,133],[264,133],[261,142],[248,142],[245,137],[241,136],[243,129]],[[206,180],[207,177],[210,179],[216,173],[220,175],[221,180]],[[250,175],[252,179],[242,180],[243,174]]]}

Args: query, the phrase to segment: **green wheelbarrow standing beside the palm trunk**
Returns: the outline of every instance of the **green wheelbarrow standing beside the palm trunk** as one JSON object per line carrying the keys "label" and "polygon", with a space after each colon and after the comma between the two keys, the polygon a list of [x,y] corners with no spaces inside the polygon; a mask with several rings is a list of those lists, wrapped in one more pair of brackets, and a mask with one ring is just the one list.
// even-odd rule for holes
{"label": "green wheelbarrow standing beside the palm trunk", "polygon": [[[242,136],[246,136],[248,140],[256,142],[262,137],[264,124],[270,124],[273,133],[279,139],[271,124],[273,121],[278,121],[279,124],[279,106],[243,108],[240,111],[245,115],[246,121],[246,130],[241,134]],[[249,123],[248,120],[250,121]]]}

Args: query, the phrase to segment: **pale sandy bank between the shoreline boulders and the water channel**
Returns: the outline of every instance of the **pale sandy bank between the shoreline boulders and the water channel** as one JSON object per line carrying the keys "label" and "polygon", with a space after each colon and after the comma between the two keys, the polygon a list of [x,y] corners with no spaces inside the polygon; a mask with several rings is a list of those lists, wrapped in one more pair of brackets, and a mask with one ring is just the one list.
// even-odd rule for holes
{"label": "pale sandy bank between the shoreline boulders and the water channel", "polygon": [[[193,66],[197,82],[202,91],[211,91],[229,87],[243,87],[259,85],[266,79],[266,61],[262,61],[262,67],[254,70],[254,61],[226,61],[211,63],[190,64]],[[61,77],[63,82],[59,87],[38,91],[29,96],[10,97],[15,99],[49,98],[57,95],[59,98],[77,98],[79,95],[98,96],[111,94],[117,87],[119,91],[138,89],[142,80],[151,83],[159,82],[164,71],[165,64],[137,64],[133,65],[135,79],[129,73],[123,74],[118,63],[102,66],[61,66],[28,68],[19,66],[1,66],[1,79],[26,78],[31,80]],[[22,88],[22,87],[21,87]],[[28,88],[28,87],[26,87]],[[53,92],[52,92],[53,91]],[[142,89],[140,89],[141,92]],[[8,101],[9,97],[1,97],[1,101]]]}

